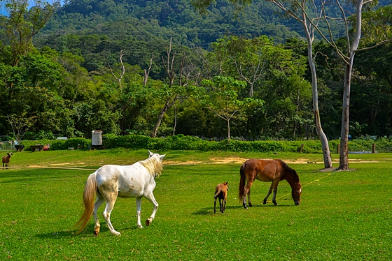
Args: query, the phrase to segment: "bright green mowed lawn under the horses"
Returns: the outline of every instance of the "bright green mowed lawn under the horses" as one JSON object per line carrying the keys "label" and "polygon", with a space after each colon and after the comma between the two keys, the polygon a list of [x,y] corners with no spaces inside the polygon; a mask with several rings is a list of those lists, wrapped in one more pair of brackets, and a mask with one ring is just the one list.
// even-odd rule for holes
{"label": "bright green mowed lawn under the horses", "polygon": [[[119,198],[111,221],[121,237],[109,232],[102,215],[98,237],[92,234],[93,218],[85,232],[75,234],[73,225],[83,213],[84,184],[97,167],[131,164],[147,158],[148,151],[14,153],[10,166],[21,168],[0,170],[0,260],[389,260],[392,256],[392,154],[350,154],[350,167],[356,170],[320,172],[319,154],[156,152],[167,154],[167,164],[154,191],[160,204],[155,220],[147,228],[137,228],[135,200]],[[225,158],[232,161],[217,161]],[[244,209],[238,184],[240,162],[246,158],[292,162],[288,165],[297,170],[303,186],[300,206],[290,199],[286,181],[279,184],[278,206],[270,202],[272,196],[263,205],[269,184],[255,181],[255,206]],[[228,205],[224,214],[214,214],[214,189],[224,181],[230,188]],[[144,199],[141,209],[144,223],[153,206]]]}

